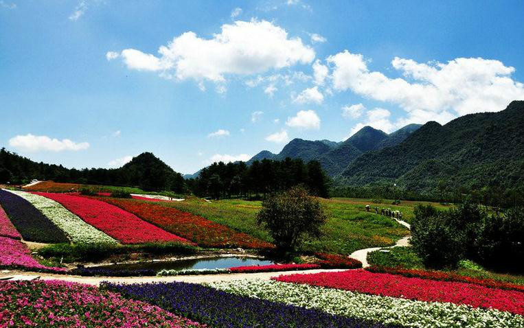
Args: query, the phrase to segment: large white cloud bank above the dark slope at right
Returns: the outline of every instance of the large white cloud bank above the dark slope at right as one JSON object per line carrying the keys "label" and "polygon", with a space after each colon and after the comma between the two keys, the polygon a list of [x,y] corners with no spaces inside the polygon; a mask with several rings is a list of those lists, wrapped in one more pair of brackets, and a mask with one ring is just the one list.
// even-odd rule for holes
{"label": "large white cloud bank above the dark slope at right", "polygon": [[394,58],[391,65],[405,78],[388,78],[369,71],[361,54],[343,51],[328,58],[334,66],[333,87],[397,104],[407,121],[446,123],[469,113],[502,110],[514,99],[524,99],[524,84],[511,78],[513,67],[499,60],[456,58],[447,63],[418,63]]}

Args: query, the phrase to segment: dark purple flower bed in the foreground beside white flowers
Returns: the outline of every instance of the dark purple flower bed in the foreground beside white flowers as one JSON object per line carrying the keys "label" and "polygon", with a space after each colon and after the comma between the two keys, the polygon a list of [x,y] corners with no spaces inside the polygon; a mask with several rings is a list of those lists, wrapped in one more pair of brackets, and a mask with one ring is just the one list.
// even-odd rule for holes
{"label": "dark purple flower bed in the foreground beside white flowers", "polygon": [[146,301],[169,312],[214,328],[385,328],[393,327],[354,318],[335,316],[259,298],[229,294],[194,283],[144,283],[118,285],[102,283],[101,288],[122,296]]}

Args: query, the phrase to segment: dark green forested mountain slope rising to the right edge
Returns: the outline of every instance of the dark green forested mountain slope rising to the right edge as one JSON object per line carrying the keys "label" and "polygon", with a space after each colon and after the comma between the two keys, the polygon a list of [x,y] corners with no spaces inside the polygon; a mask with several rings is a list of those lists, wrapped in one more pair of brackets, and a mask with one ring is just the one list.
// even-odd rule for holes
{"label": "dark green forested mountain slope rising to the right edge", "polygon": [[524,183],[524,102],[498,113],[428,122],[405,141],[358,156],[341,174],[343,185],[397,183],[434,192],[440,180],[457,189]]}

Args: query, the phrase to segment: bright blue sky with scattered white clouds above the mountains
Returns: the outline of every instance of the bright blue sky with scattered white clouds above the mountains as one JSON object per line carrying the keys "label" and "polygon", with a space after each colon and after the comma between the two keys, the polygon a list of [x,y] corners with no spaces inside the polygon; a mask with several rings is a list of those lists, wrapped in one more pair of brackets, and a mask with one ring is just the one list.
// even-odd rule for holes
{"label": "bright blue sky with scattered white clouds above the mountains", "polygon": [[[176,171],[524,99],[523,1],[0,1],[0,146]],[[159,51],[160,50],[160,51]]]}

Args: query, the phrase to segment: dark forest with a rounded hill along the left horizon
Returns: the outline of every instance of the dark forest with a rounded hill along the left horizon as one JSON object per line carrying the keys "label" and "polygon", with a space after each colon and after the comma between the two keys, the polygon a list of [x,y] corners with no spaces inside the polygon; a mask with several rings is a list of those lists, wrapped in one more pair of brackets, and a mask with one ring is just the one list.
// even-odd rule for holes
{"label": "dark forest with a rounded hill along the left horizon", "polygon": [[181,174],[150,152],[144,152],[117,169],[67,169],[36,163],[5,148],[0,150],[0,183],[27,183],[32,179],[60,183],[133,186],[146,191],[185,191]]}

